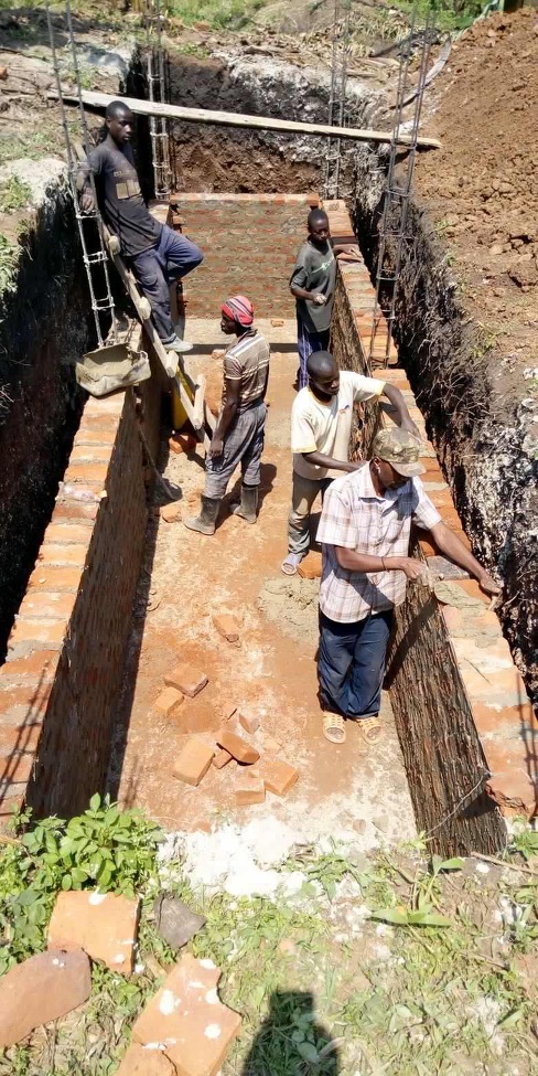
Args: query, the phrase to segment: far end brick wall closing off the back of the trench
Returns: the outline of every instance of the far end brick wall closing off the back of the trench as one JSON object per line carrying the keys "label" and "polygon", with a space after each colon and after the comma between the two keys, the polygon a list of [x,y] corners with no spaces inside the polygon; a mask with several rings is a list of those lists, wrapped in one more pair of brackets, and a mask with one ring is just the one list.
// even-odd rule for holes
{"label": "far end brick wall closing off the back of the trench", "polygon": [[183,232],[204,251],[186,277],[187,316],[216,318],[229,295],[247,295],[258,318],[293,318],[288,281],[306,237],[315,194],[179,194]]}

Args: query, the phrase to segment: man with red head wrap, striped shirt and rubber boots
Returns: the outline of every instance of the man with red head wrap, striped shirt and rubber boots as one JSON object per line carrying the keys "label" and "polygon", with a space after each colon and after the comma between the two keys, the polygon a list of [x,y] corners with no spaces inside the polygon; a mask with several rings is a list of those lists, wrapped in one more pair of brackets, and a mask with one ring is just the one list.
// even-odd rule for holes
{"label": "man with red head wrap, striped shirt and rubber boots", "polygon": [[201,534],[214,534],[220,501],[239,462],[241,501],[234,512],[256,523],[263,451],[269,344],[254,328],[254,308],[246,296],[223,303],[220,329],[237,340],[224,355],[223,402],[205,465],[202,508],[197,516],[185,520],[185,526]]}

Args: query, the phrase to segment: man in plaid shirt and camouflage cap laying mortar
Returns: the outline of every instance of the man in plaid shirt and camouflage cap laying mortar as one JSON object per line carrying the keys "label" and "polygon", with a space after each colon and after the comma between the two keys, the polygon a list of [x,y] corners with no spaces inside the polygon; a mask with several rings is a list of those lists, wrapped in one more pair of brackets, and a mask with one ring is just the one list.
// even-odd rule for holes
{"label": "man in plaid shirt and camouflage cap laying mortar", "polygon": [[378,713],[394,609],[407,579],[424,572],[409,556],[411,522],[431,532],[437,547],[478,580],[485,594],[499,587],[441,521],[417,476],[420,443],[397,427],[377,434],[373,459],[332,482],[325,493],[318,541],[323,548],[318,674],[323,731],[345,741],[344,718],[359,720],[367,744],[380,736]]}

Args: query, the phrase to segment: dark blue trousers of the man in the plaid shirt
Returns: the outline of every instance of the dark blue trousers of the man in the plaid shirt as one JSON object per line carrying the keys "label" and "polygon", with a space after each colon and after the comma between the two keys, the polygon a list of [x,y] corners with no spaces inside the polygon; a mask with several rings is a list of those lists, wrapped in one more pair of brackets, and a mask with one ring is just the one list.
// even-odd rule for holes
{"label": "dark blue trousers of the man in the plaid shirt", "polygon": [[337,624],[320,612],[318,677],[320,702],[344,717],[378,714],[392,609],[354,624]]}

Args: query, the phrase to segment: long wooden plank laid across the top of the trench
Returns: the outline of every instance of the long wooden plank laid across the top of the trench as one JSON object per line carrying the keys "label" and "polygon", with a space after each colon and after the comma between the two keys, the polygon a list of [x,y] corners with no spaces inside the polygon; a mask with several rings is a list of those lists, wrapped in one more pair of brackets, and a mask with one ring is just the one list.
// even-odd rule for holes
{"label": "long wooden plank laid across the top of the trench", "polygon": [[[49,97],[57,97],[52,90]],[[63,99],[78,104],[78,97],[63,94]],[[80,94],[84,105],[94,108],[106,108],[118,95],[101,94],[97,90],[83,89]],[[244,113],[215,111],[213,108],[184,108],[181,105],[166,105],[158,100],[140,100],[138,97],[121,97],[123,105],[140,116],[165,116],[168,119],[182,119],[187,124],[218,124],[224,127],[244,127],[248,129],[280,130],[290,135],[316,135],[323,138],[347,138],[361,142],[390,142],[391,131],[372,130],[361,127],[331,127],[330,124],[302,124],[288,119],[272,119],[270,116],[248,116]],[[399,135],[398,143],[409,146],[410,135]],[[438,138],[419,137],[417,146],[420,149],[440,149]]]}

